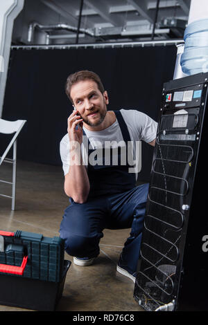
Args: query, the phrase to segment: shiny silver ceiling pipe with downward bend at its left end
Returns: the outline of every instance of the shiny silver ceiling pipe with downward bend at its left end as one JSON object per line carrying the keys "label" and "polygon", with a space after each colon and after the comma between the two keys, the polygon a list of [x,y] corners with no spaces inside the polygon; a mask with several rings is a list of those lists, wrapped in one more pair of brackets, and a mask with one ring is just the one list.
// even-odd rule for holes
{"label": "shiny silver ceiling pipe with downward bend at its left end", "polygon": [[[69,26],[67,24],[41,25],[33,21],[33,23],[31,23],[28,27],[28,43],[31,43],[34,39],[35,28],[43,30],[44,32],[49,32],[51,30],[69,30],[70,32],[78,32],[78,28]],[[94,37],[94,32],[90,32],[84,28],[79,28],[79,32],[83,32],[86,35]]]}

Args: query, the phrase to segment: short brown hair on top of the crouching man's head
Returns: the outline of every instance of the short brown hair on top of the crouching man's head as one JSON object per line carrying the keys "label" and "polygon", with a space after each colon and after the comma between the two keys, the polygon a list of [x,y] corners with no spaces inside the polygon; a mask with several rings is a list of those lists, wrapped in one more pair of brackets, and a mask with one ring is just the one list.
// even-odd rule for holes
{"label": "short brown hair on top of the crouching man's head", "polygon": [[101,78],[94,72],[92,71],[88,71],[88,70],[82,70],[82,71],[78,71],[76,73],[71,73],[71,75],[69,75],[69,77],[67,78],[67,82],[65,85],[65,91],[67,96],[69,97],[69,100],[71,100],[72,104],[73,104],[73,100],[71,99],[71,87],[73,86],[73,84],[76,84],[77,82],[83,81],[83,80],[93,80],[94,82],[96,82],[96,84],[98,85],[98,89],[99,91],[101,91],[101,93],[104,93],[105,89],[103,87],[103,84],[101,82]]}

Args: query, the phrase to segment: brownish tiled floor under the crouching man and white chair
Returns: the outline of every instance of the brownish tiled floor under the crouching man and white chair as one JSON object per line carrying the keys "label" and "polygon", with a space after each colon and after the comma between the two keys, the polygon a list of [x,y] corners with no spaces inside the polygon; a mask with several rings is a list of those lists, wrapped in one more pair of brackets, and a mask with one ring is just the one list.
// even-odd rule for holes
{"label": "brownish tiled floor under the crouching man and white chair", "polygon": [[[8,179],[11,165],[3,164],[0,179]],[[10,194],[0,185],[0,193]],[[9,198],[0,196],[0,230],[37,232],[59,236],[62,214],[68,205],[63,190],[62,167],[17,161],[16,210]],[[116,272],[123,243],[130,230],[105,230],[101,254],[94,265],[71,263],[57,310],[64,311],[142,311],[133,297],[134,283]],[[72,258],[65,254],[65,259]],[[0,306],[0,311],[25,309]]]}

